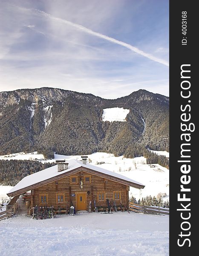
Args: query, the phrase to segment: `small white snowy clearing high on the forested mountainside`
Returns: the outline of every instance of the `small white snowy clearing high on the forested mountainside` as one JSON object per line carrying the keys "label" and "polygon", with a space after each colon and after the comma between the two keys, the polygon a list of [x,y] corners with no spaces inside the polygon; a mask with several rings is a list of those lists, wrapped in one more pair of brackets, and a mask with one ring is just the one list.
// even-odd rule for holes
{"label": "small white snowy clearing high on the forested mountainside", "polygon": [[125,118],[127,117],[127,114],[129,113],[129,109],[124,108],[104,108],[103,114],[102,114],[102,121],[120,121],[120,122],[126,122]]}

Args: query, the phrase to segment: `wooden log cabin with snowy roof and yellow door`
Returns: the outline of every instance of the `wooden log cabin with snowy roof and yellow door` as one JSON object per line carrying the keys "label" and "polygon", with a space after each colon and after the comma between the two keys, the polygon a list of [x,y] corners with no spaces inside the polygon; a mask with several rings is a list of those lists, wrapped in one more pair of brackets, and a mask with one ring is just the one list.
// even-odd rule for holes
{"label": "wooden log cabin with snowy roof and yellow door", "polygon": [[24,177],[9,192],[13,197],[31,191],[30,207],[54,206],[66,209],[73,204],[76,211],[89,209],[89,201],[106,209],[108,198],[116,205],[129,204],[129,187],[143,189],[144,185],[128,177],[82,161],[56,161],[57,165]]}

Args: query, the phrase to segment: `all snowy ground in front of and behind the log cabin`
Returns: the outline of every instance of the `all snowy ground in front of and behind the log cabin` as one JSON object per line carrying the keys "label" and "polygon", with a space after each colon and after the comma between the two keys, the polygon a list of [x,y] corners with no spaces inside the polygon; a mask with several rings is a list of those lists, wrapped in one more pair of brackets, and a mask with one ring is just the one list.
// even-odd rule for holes
{"label": "all snowy ground in front of and behind the log cabin", "polygon": [[[54,162],[77,159],[81,156],[55,154],[55,159],[44,160],[37,152],[0,156],[0,159],[41,159]],[[144,157],[133,159],[114,157],[113,154],[94,153],[88,162],[104,169],[130,177],[145,185],[141,195],[130,188],[130,196],[137,199],[166,192],[169,199],[169,170],[155,164],[150,167]],[[0,186],[0,195],[6,195],[11,186]],[[3,207],[5,208],[5,207]],[[135,212],[113,214],[78,213],[75,216],[58,215],[54,219],[35,220],[17,215],[0,221],[1,256],[87,256],[87,255],[169,255],[169,216],[143,215]]]}

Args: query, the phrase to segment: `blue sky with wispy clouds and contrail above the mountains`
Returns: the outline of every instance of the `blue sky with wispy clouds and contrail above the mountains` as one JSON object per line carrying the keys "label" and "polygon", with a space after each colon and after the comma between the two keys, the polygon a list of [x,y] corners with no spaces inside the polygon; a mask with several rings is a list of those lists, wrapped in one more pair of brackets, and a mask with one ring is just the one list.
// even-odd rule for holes
{"label": "blue sky with wispy clouds and contrail above the mountains", "polygon": [[168,0],[0,0],[0,91],[169,96]]}

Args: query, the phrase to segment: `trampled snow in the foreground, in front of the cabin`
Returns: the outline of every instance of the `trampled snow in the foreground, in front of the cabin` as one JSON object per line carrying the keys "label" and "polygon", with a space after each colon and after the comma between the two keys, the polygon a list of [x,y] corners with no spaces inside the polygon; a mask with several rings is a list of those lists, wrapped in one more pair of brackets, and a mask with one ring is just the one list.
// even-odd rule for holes
{"label": "trampled snow in the foreground, in front of the cabin", "polygon": [[135,212],[79,213],[0,221],[1,256],[168,256],[169,217]]}

